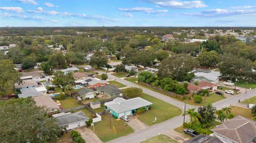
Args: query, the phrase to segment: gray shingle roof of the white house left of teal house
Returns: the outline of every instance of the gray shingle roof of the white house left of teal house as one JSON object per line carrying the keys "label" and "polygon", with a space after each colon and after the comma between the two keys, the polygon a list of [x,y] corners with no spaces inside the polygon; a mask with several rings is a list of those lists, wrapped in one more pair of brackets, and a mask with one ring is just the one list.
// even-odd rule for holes
{"label": "gray shingle roof of the white house left of teal house", "polygon": [[87,117],[82,111],[55,117],[55,121],[57,121],[57,123],[60,126],[70,124],[70,123],[75,123],[78,121],[83,121],[83,120],[85,121],[89,120],[89,117]]}

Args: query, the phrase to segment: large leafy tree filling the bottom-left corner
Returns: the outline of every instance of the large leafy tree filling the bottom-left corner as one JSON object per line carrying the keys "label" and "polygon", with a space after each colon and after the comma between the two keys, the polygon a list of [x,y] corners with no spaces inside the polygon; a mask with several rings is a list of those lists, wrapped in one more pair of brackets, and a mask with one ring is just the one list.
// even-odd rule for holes
{"label": "large leafy tree filling the bottom-left corner", "polygon": [[29,100],[17,98],[0,102],[0,142],[57,142],[58,124],[42,107],[36,106],[33,99]]}

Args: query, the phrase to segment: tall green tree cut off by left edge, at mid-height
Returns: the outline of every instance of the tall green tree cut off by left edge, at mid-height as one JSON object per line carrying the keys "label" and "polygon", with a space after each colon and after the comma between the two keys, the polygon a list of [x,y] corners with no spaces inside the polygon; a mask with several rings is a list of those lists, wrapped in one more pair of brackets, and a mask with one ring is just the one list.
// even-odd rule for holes
{"label": "tall green tree cut off by left edge, at mid-height", "polygon": [[20,81],[20,73],[16,71],[11,60],[0,60],[0,97],[13,93],[13,85]]}

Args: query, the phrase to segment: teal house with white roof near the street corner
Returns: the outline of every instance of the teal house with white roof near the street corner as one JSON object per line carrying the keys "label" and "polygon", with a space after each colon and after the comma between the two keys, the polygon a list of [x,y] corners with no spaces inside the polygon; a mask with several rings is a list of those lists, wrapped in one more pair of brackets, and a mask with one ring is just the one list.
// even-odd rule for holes
{"label": "teal house with white roof near the street corner", "polygon": [[146,110],[148,110],[149,106],[152,104],[153,103],[140,97],[127,100],[117,97],[111,102],[106,102],[104,105],[105,110],[109,111],[115,118],[119,118],[122,116],[133,115],[141,107],[146,107]]}

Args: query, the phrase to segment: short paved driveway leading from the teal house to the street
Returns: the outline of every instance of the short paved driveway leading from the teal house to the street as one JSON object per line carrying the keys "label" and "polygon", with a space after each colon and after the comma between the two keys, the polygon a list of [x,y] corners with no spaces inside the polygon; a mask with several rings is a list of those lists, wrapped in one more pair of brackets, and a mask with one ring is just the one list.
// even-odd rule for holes
{"label": "short paved driveway leading from the teal house to the street", "polygon": [[136,116],[129,116],[129,118],[130,121],[127,123],[134,131],[143,130],[149,127],[148,125],[137,119]]}

